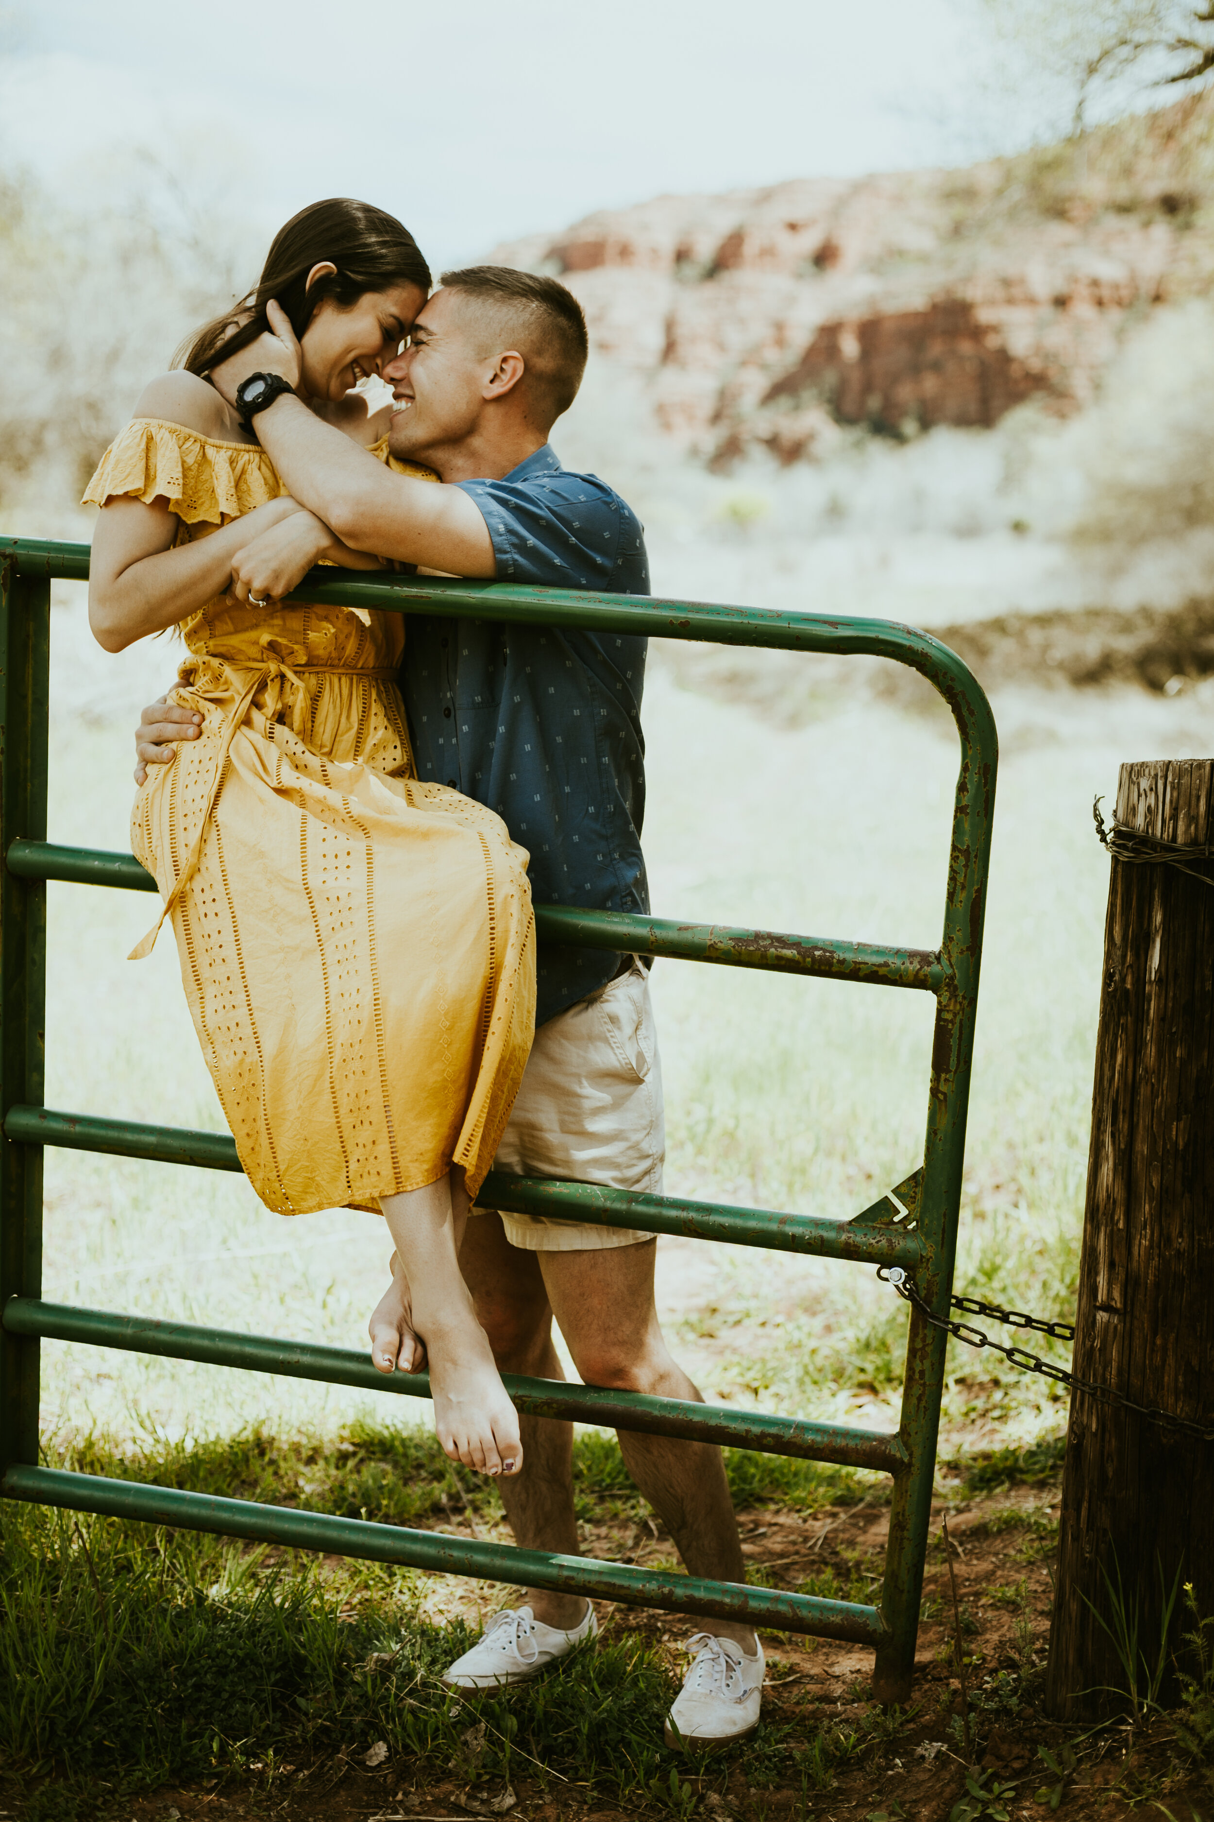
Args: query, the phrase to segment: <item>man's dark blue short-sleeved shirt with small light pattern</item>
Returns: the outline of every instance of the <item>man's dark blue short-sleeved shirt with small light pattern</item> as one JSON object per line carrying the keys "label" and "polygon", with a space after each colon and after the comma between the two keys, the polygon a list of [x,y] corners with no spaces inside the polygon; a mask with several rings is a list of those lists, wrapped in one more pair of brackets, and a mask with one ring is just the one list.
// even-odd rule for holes
{"label": "man's dark blue short-sleeved shirt with small light pattern", "polygon": [[[648,594],[644,534],[593,474],[550,445],[504,481],[460,481],[484,514],[497,579]],[[537,906],[648,911],[641,855],[646,640],[410,616],[400,687],[420,778],[495,809],[531,855]],[[535,1022],[604,986],[619,958],[541,944]]]}

